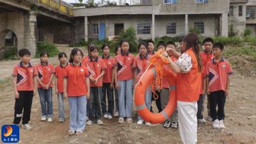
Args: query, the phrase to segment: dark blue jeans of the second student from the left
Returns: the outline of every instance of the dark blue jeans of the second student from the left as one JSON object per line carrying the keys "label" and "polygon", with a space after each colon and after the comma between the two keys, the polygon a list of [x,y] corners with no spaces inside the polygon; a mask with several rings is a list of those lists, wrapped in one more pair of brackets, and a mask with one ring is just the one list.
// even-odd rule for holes
{"label": "dark blue jeans of the second student from the left", "polygon": [[41,116],[51,118],[53,116],[52,110],[52,88],[48,90],[43,90],[43,88],[38,88],[38,94],[41,103]]}

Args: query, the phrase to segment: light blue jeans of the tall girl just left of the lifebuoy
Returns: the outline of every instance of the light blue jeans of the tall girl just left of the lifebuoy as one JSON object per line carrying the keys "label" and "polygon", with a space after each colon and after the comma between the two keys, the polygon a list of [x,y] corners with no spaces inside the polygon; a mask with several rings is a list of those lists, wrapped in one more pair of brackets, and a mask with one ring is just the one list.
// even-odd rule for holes
{"label": "light blue jeans of the tall girl just left of the lifebuoy", "polygon": [[118,105],[121,118],[132,118],[133,80],[118,81]]}

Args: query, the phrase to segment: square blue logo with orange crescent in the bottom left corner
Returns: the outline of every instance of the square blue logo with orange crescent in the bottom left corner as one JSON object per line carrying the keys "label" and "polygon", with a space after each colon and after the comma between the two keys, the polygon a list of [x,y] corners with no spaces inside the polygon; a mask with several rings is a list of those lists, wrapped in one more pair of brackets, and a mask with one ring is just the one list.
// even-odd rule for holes
{"label": "square blue logo with orange crescent in the bottom left corner", "polygon": [[19,142],[20,128],[18,125],[3,125],[1,128],[1,140],[3,143]]}

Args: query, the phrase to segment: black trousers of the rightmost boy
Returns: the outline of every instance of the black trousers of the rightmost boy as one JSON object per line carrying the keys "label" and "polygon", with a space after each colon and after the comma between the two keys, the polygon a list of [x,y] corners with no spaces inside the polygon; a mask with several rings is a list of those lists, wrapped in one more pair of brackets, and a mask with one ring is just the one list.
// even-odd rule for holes
{"label": "black trousers of the rightmost boy", "polygon": [[[216,92],[210,93],[210,114],[212,121],[223,120],[225,118],[224,106],[226,102],[225,92],[223,90],[219,90]],[[218,111],[216,111],[216,106],[218,106]]]}

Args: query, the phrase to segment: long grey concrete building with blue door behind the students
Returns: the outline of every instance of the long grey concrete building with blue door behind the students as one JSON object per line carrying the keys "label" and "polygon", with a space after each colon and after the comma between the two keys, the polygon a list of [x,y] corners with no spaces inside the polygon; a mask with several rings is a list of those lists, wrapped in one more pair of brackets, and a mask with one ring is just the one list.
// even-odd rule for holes
{"label": "long grey concrete building with blue door behind the students", "polygon": [[102,40],[131,26],[143,39],[182,36],[195,27],[202,36],[227,36],[229,5],[228,0],[141,0],[140,5],[74,8],[76,40]]}

